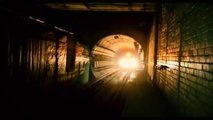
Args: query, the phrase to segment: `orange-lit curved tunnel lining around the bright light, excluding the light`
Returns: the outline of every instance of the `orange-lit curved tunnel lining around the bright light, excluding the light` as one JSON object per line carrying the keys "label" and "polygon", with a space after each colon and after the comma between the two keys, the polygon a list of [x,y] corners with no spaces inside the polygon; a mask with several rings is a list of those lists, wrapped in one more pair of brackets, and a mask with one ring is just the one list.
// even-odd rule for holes
{"label": "orange-lit curved tunnel lining around the bright light, excluding the light", "polygon": [[126,53],[144,59],[142,45],[134,38],[125,34],[110,34],[101,38],[91,50],[91,70],[95,78],[116,71],[118,58]]}

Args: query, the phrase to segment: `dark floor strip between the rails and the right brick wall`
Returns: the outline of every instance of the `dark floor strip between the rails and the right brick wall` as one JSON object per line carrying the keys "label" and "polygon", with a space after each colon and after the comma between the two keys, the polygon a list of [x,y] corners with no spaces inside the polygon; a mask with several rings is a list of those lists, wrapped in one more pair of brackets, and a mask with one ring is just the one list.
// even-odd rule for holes
{"label": "dark floor strip between the rails and the right brick wall", "polygon": [[176,117],[163,95],[149,81],[127,84],[125,92],[122,117]]}

